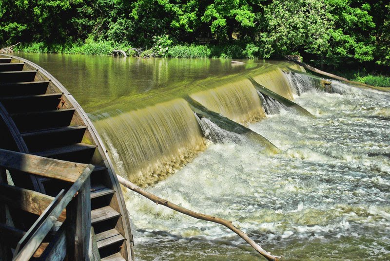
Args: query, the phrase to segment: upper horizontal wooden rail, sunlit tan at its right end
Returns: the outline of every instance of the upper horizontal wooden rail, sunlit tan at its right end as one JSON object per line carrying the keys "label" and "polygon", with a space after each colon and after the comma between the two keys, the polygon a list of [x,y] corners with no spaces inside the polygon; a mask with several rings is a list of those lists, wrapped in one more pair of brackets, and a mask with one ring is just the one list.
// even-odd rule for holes
{"label": "upper horizontal wooden rail, sunlit tan at its right end", "polygon": [[47,178],[75,182],[88,165],[0,149],[0,166]]}

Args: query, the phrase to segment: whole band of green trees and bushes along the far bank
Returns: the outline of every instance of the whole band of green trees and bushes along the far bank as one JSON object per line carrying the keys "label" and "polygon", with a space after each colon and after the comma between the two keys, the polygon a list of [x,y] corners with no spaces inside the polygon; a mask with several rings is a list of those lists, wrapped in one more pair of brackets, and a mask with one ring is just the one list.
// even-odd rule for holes
{"label": "whole band of green trees and bushes along the far bank", "polygon": [[[206,47],[199,38],[208,39]],[[390,66],[389,0],[1,0],[0,45],[34,52],[283,57]],[[146,54],[147,55],[147,54]],[[381,69],[382,70],[382,69]]]}

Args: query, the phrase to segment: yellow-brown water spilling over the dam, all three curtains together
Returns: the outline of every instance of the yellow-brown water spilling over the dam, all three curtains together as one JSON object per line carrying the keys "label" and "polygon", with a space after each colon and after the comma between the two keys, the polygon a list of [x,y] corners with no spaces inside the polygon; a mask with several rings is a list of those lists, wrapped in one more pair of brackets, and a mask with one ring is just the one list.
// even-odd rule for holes
{"label": "yellow-brown water spilling over the dam, all three curtains together", "polygon": [[[289,80],[291,76],[280,68],[264,66],[252,70],[249,75],[220,78],[218,82],[207,79],[195,82],[193,85],[202,91],[190,91],[186,96],[236,125],[258,122],[266,117],[264,106],[269,110],[270,107],[271,110],[280,108],[277,102],[262,104],[261,96],[248,78],[250,75],[254,76],[252,81],[269,85],[269,89],[286,99],[292,100],[292,93],[299,88],[295,82],[289,82],[292,81]],[[186,96],[110,117],[103,116],[95,121],[107,146],[114,153],[117,168],[121,168],[118,173],[125,173],[123,175],[137,185],[152,185],[189,163],[197,152],[206,148],[207,141],[202,132],[210,128],[205,126],[204,121],[198,123],[200,119],[186,102]],[[208,117],[214,122],[215,116]],[[217,131],[224,131],[224,128]],[[263,144],[265,147],[272,146],[257,133],[252,132],[247,136],[251,136],[252,140],[257,139],[259,143],[266,143]]]}

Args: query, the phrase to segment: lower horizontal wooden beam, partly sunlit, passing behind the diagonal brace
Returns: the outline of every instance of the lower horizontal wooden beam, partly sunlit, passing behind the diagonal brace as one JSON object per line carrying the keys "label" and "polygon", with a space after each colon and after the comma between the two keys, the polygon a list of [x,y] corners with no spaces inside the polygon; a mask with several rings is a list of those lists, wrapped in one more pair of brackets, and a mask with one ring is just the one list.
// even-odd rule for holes
{"label": "lower horizontal wooden beam, partly sunlit, passing behind the diagonal brace", "polygon": [[[53,197],[33,190],[0,184],[0,201],[39,216],[53,200]],[[59,221],[64,222],[65,219],[66,211],[64,210],[59,216]]]}

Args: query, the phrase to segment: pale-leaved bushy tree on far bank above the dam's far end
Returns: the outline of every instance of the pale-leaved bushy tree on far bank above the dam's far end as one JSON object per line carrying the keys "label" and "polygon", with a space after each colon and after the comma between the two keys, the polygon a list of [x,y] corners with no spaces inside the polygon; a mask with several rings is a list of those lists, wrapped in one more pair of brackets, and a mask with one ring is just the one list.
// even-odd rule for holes
{"label": "pale-leaved bushy tree on far bank above the dam's far end", "polygon": [[264,6],[263,30],[259,32],[262,56],[314,55],[329,48],[332,22],[323,0],[274,0]]}

